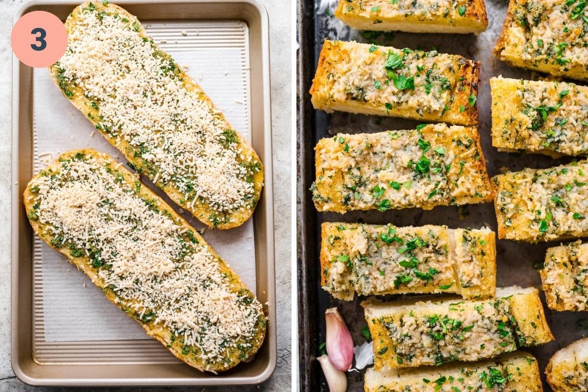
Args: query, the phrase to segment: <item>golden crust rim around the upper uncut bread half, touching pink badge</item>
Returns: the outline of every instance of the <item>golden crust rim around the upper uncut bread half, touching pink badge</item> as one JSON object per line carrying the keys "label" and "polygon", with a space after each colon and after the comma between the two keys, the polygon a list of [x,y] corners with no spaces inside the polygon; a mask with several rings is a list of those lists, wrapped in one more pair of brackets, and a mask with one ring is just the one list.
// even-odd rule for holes
{"label": "golden crust rim around the upper uncut bread half, touching pink badge", "polygon": [[[130,21],[129,23],[135,21],[136,26],[138,26],[138,29],[136,30],[137,33],[145,39],[151,39],[147,35],[145,28],[143,28],[143,26],[141,25],[141,22],[139,22],[139,20],[136,19],[135,16],[129,14],[129,12],[127,12],[125,9],[115,4],[103,4],[103,2],[90,1],[86,1],[83,4],[77,6],[74,9],[74,11],[72,11],[71,14],[69,14],[65,22],[65,28],[68,32],[68,36],[74,35],[73,33],[76,31],[76,22],[79,19],[79,13],[81,12],[82,8],[88,7],[89,4],[92,4],[96,10],[101,12],[118,12],[119,15],[128,18]],[[158,48],[159,51],[163,53],[163,56],[165,56],[166,59],[173,61],[171,56],[169,56],[168,53],[165,53],[165,51],[159,48],[159,46],[155,42],[153,43],[153,46]],[[196,81],[191,78],[191,76],[184,72],[181,67],[178,67],[178,69],[178,76],[179,78],[183,79],[184,87],[189,91],[198,92],[199,98],[203,102],[205,102],[206,105],[208,105],[211,108],[211,110],[218,112],[219,122],[224,123],[226,129],[233,129],[228,120],[226,120],[225,116],[223,116],[220,110],[214,105],[214,103],[208,97],[208,95],[206,95],[205,92],[202,91],[201,86],[199,86],[198,83],[196,83]],[[49,75],[51,75],[51,79],[55,83],[55,85],[59,87],[60,83],[58,80],[58,73],[59,69],[57,66],[55,66],[55,64],[49,66]],[[86,98],[81,86],[70,86],[70,88],[73,93],[71,97],[66,95],[63,89],[60,88],[60,90],[62,91],[62,93],[64,93],[64,96],[68,98],[72,105],[74,105],[78,110],[80,110],[83,113],[83,115],[85,115],[93,125],[98,125],[99,110],[93,108],[93,106],[91,105],[93,101],[89,98]],[[149,170],[142,169],[143,164],[145,164],[147,161],[143,159],[141,155],[136,156],[136,153],[139,151],[139,148],[131,145],[127,140],[124,140],[122,138],[118,139],[112,135],[109,135],[108,132],[106,132],[106,130],[101,127],[96,127],[96,129],[102,134],[102,136],[106,138],[106,140],[108,140],[113,146],[119,149],[119,151],[123,155],[125,155],[126,159],[128,159],[129,162],[131,162],[136,167],[136,169],[139,172],[141,172],[141,174],[147,176],[149,180],[153,182],[157,175],[156,173],[152,173]],[[259,163],[260,170],[254,173],[252,176],[255,199],[259,200],[263,188],[263,165],[260,162],[255,150],[253,150],[253,148],[249,145],[247,140],[245,140],[243,135],[235,131],[235,136],[238,139],[239,148],[242,150],[242,152],[240,153],[240,157],[242,158],[238,157],[238,160],[240,160],[240,162]],[[249,219],[249,217],[253,214],[253,210],[255,209],[255,204],[253,204],[253,207],[249,209],[240,208],[239,210],[228,213],[228,215],[225,215],[225,219],[223,219],[222,222],[215,224],[215,222],[211,220],[211,216],[218,215],[218,211],[215,210],[215,208],[208,202],[200,200],[200,197],[196,197],[194,205],[191,206],[190,203],[186,201],[182,202],[182,200],[184,200],[185,195],[183,195],[183,193],[179,191],[178,187],[173,186],[171,182],[167,185],[163,185],[161,181],[155,181],[155,185],[162,189],[163,192],[165,192],[173,200],[173,202],[181,206],[183,209],[189,210],[192,213],[192,215],[195,216],[202,223],[209,227],[215,227],[216,229],[231,229],[233,227],[238,227],[242,225],[246,222],[246,220]]]}

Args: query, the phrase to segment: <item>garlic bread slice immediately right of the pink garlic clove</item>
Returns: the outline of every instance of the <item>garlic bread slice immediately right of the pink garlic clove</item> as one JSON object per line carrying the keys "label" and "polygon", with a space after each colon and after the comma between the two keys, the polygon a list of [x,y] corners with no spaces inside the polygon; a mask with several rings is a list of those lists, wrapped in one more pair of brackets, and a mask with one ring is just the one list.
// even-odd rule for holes
{"label": "garlic bread slice immediately right of the pink garlic clove", "polygon": [[497,289],[487,300],[418,300],[362,303],[376,370],[479,361],[553,340],[532,287]]}

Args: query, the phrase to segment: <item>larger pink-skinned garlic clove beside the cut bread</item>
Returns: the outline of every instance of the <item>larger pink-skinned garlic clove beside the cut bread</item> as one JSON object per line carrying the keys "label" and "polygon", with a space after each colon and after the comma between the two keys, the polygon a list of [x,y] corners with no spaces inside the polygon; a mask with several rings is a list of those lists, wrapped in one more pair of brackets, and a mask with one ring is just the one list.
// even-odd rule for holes
{"label": "larger pink-skinned garlic clove beside the cut bread", "polygon": [[341,371],[348,371],[353,363],[353,339],[336,307],[325,310],[326,349],[331,363]]}

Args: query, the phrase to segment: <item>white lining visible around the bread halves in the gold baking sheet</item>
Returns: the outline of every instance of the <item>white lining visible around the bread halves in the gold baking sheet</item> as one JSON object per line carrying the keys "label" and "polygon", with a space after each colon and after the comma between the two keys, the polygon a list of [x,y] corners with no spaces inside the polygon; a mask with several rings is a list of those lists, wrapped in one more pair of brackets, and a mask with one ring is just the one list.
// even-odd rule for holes
{"label": "white lining visible around the bread halves in the gold baking sheet", "polygon": [[[199,83],[229,122],[250,142],[249,56],[245,22],[145,22],[148,34],[172,55],[175,62]],[[185,33],[185,35],[183,34]],[[211,43],[211,36],[234,36],[226,45]],[[214,45],[217,45],[214,47]],[[211,47],[212,46],[212,47]],[[119,162],[125,157],[114,148],[54,85],[44,68],[33,71],[33,118],[35,173],[67,150],[92,147]],[[231,86],[231,88],[226,88]],[[152,183],[151,189],[176,210],[181,209]],[[189,213],[182,213],[192,226],[205,227]],[[203,237],[255,292],[255,243],[253,222],[230,230],[205,230]],[[39,311],[43,330],[39,341],[105,341],[146,339],[135,320],[126,317],[105,299],[88,277],[61,253],[35,236],[35,287],[41,295]],[[35,320],[37,321],[37,320]],[[38,346],[42,350],[44,346]],[[161,347],[162,351],[167,351]],[[39,353],[42,356],[42,353]]]}

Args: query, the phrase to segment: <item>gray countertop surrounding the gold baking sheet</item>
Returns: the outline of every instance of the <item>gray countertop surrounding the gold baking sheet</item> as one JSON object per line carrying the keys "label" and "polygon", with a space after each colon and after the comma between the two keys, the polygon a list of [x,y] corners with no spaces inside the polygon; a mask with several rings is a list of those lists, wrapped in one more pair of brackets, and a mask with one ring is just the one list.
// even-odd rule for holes
{"label": "gray countertop surrounding the gold baking sheet", "polygon": [[[10,364],[10,232],[11,212],[11,62],[9,37],[12,16],[22,0],[0,0],[0,392],[67,391],[72,388],[27,386],[12,373]],[[260,0],[269,13],[270,66],[272,82],[272,137],[275,220],[278,366],[273,376],[260,386],[235,388],[167,387],[158,391],[290,391],[290,193],[280,192],[279,184],[290,184],[290,6],[280,0]],[[282,48],[282,50],[275,50]],[[283,169],[286,167],[287,169]],[[76,388],[87,391],[136,391],[153,388]]]}

